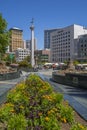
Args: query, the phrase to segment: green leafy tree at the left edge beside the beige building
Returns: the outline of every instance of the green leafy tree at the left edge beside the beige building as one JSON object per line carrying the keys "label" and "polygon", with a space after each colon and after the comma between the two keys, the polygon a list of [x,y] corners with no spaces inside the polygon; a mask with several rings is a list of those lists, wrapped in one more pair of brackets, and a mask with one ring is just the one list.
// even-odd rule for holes
{"label": "green leafy tree at the left edge beside the beige building", "polygon": [[10,33],[7,31],[7,22],[0,14],[0,58],[5,54],[9,45]]}

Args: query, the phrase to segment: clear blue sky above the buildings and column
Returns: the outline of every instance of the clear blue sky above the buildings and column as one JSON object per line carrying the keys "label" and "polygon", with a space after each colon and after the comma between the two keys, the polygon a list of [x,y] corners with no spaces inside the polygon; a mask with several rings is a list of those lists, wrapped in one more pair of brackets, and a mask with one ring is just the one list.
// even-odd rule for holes
{"label": "clear blue sky above the buildings and column", "polygon": [[44,30],[72,24],[87,27],[87,0],[0,0],[0,13],[8,29],[23,30],[23,39],[31,38],[30,25],[34,18],[37,48],[44,48]]}

